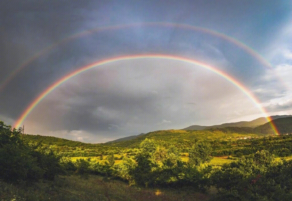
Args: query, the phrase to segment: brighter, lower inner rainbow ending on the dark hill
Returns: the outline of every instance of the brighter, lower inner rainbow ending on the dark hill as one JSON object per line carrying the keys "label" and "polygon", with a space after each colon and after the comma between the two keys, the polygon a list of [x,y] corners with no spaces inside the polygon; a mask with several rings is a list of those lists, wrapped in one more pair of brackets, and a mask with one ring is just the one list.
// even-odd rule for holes
{"label": "brighter, lower inner rainbow ending on the dark hill", "polygon": [[[218,74],[220,77],[223,77],[224,79],[226,79],[227,81],[229,81],[230,83],[232,83],[233,85],[235,85],[238,89],[240,89],[244,94],[246,94],[246,96],[248,96],[248,98],[250,98],[253,103],[260,109],[260,111],[267,116],[267,112],[265,111],[265,109],[260,105],[259,100],[253,95],[253,93],[251,93],[251,91],[249,91],[243,84],[241,84],[240,82],[238,82],[236,79],[234,79],[233,77],[231,77],[229,74],[227,74],[226,72],[223,72],[215,67],[212,67],[206,63],[197,61],[197,60],[192,60],[189,58],[184,58],[181,56],[173,56],[173,55],[162,55],[162,54],[143,54],[143,55],[128,55],[128,56],[119,56],[119,57],[114,57],[114,58],[108,58],[108,59],[104,59],[104,60],[99,60],[95,63],[91,63],[89,65],[83,66],[81,68],[79,68],[78,70],[75,70],[67,75],[65,75],[64,77],[62,77],[61,79],[59,79],[58,81],[56,81],[55,83],[53,83],[51,86],[49,86],[46,90],[44,90],[41,94],[39,94],[39,96],[34,99],[32,101],[32,103],[29,104],[29,106],[24,110],[24,112],[22,112],[22,114],[20,115],[20,117],[18,118],[18,120],[15,122],[14,127],[18,128],[21,126],[22,122],[26,119],[27,115],[29,115],[29,113],[36,107],[36,105],[38,105],[41,100],[43,100],[51,91],[53,91],[55,88],[57,88],[58,86],[60,86],[62,83],[66,82],[68,79],[86,71],[89,69],[92,69],[94,67],[98,67],[101,65],[105,65],[105,64],[109,64],[109,63],[113,63],[113,62],[117,62],[117,61],[122,61],[122,60],[133,60],[133,59],[144,59],[144,58],[152,58],[152,59],[168,59],[168,60],[177,60],[177,61],[182,61],[182,62],[186,62],[186,63],[190,63],[193,65],[197,65],[197,66],[201,66],[207,70],[210,70],[216,74]],[[270,122],[270,125],[273,129],[273,131],[275,133],[278,133],[277,128],[275,127],[275,125],[271,122],[271,118],[270,117],[266,117],[267,121]]]}

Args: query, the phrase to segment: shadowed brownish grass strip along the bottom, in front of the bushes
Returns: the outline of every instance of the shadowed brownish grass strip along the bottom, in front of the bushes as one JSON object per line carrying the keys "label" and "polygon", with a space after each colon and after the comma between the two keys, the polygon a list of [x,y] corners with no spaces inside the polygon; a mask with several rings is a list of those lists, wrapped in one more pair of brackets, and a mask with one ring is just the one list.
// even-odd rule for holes
{"label": "shadowed brownish grass strip along the bottom, in front of the bushes", "polygon": [[129,186],[127,183],[100,176],[59,176],[54,181],[39,181],[33,185],[12,185],[0,181],[0,200],[44,200],[44,201],[165,201],[208,200],[209,195],[192,188],[159,189]]}

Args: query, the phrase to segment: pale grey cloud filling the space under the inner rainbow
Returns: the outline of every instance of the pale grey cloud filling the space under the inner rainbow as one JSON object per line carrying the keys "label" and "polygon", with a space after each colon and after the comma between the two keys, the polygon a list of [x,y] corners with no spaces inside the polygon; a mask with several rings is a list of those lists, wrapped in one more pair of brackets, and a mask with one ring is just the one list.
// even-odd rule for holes
{"label": "pale grey cloud filling the space under the inner rainbow", "polygon": [[[148,69],[137,67],[140,62]],[[157,67],[158,63],[164,63],[165,67]],[[232,108],[241,108],[239,103],[230,103],[234,96],[240,104],[250,104],[230,82],[210,71],[182,65],[176,61],[145,59],[116,63],[107,70],[88,71],[55,89],[28,119],[56,132],[86,130],[93,136],[135,135],[180,128],[181,124],[202,119],[202,114],[209,119],[214,111],[224,114]],[[128,77],[143,71],[147,71],[145,77],[128,81]],[[218,108],[227,100],[226,107]]]}

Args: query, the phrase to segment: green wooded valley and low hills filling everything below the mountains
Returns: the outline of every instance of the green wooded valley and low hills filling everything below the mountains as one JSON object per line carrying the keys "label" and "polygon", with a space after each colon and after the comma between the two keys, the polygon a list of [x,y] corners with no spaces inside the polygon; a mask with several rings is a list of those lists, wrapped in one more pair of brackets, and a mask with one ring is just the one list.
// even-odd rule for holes
{"label": "green wooded valley and low hills filling everything below the mountains", "polygon": [[[154,131],[89,144],[0,121],[0,200],[292,200],[292,135],[247,131]],[[104,189],[76,186],[84,182]]]}

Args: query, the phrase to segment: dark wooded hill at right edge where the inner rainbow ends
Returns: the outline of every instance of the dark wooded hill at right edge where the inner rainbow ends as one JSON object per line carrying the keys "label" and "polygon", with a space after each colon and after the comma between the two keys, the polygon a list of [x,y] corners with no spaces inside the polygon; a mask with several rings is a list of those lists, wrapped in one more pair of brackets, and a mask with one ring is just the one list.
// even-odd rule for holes
{"label": "dark wooded hill at right edge where the inner rainbow ends", "polygon": [[[292,117],[277,118],[271,122],[277,128],[279,134],[292,133]],[[270,122],[254,128],[254,131],[263,134],[274,134]]]}

